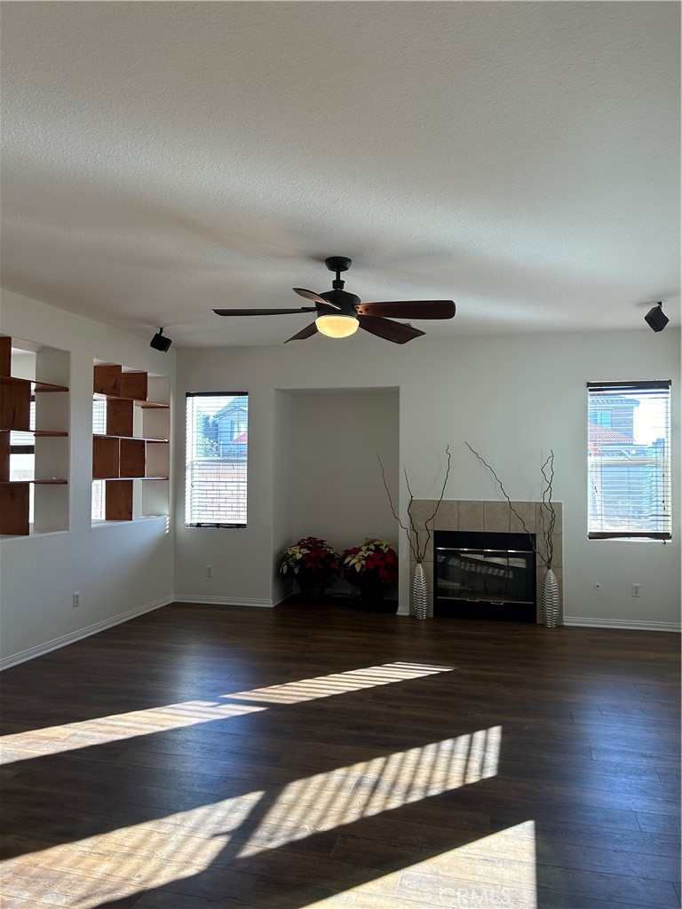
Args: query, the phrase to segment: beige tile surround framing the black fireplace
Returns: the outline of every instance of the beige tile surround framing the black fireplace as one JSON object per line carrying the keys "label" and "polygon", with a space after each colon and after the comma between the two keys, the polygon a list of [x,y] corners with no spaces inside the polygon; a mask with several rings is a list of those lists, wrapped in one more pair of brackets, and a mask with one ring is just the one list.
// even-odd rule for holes
{"label": "beige tile surround framing the black fireplace", "polygon": [[[544,541],[539,531],[542,528],[541,523],[541,502],[512,502],[518,514],[523,516],[526,522],[527,530],[531,534],[537,534],[536,545],[540,554],[545,553]],[[559,585],[559,619],[558,624],[564,624],[564,577],[563,577],[563,515],[564,508],[562,502],[552,503],[557,512],[557,524],[554,531],[554,573],[557,575],[557,584]],[[415,499],[412,505],[412,517],[416,527],[424,527],[427,517],[434,513],[436,500],[434,499]],[[506,502],[472,502],[466,499],[444,499],[438,508],[436,520],[433,523],[433,530],[464,530],[476,533],[488,534],[518,534],[523,533],[523,527],[515,514],[512,514],[509,505]],[[420,538],[424,539],[422,532]],[[433,615],[433,596],[434,596],[434,540],[433,534],[426,547],[426,557],[424,559],[424,571],[428,583],[428,594],[430,603],[428,607],[429,617]],[[410,579],[415,568],[415,561],[410,559]],[[536,566],[537,580],[537,622],[542,622],[540,615],[539,595],[542,589],[542,579],[545,575],[545,568],[542,564]],[[410,585],[411,586],[411,585]],[[410,589],[410,614],[414,614],[414,603],[412,602],[412,590]],[[439,620],[440,621],[440,620]]]}

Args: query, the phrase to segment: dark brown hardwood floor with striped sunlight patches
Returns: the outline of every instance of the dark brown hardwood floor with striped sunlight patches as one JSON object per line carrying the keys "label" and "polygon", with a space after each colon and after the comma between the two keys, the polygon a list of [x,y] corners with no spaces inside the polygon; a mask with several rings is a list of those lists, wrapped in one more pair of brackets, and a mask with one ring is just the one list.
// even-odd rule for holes
{"label": "dark brown hardwood floor with striped sunlight patches", "polygon": [[679,906],[679,637],[175,604],[6,670],[2,906]]}

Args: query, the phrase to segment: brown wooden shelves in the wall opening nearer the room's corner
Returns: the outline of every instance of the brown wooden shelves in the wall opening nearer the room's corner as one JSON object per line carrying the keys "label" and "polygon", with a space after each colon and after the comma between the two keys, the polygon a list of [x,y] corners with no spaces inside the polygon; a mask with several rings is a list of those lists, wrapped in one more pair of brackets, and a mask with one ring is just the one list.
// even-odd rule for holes
{"label": "brown wooden shelves in the wall opening nearer the room's corner", "polygon": [[147,373],[97,364],[94,375],[95,401],[105,402],[105,432],[93,435],[93,480],[105,481],[105,520],[132,521],[150,511],[144,501],[135,508],[135,484],[148,481],[166,485],[165,507],[156,504],[151,514],[167,514],[169,405],[150,400]]}

